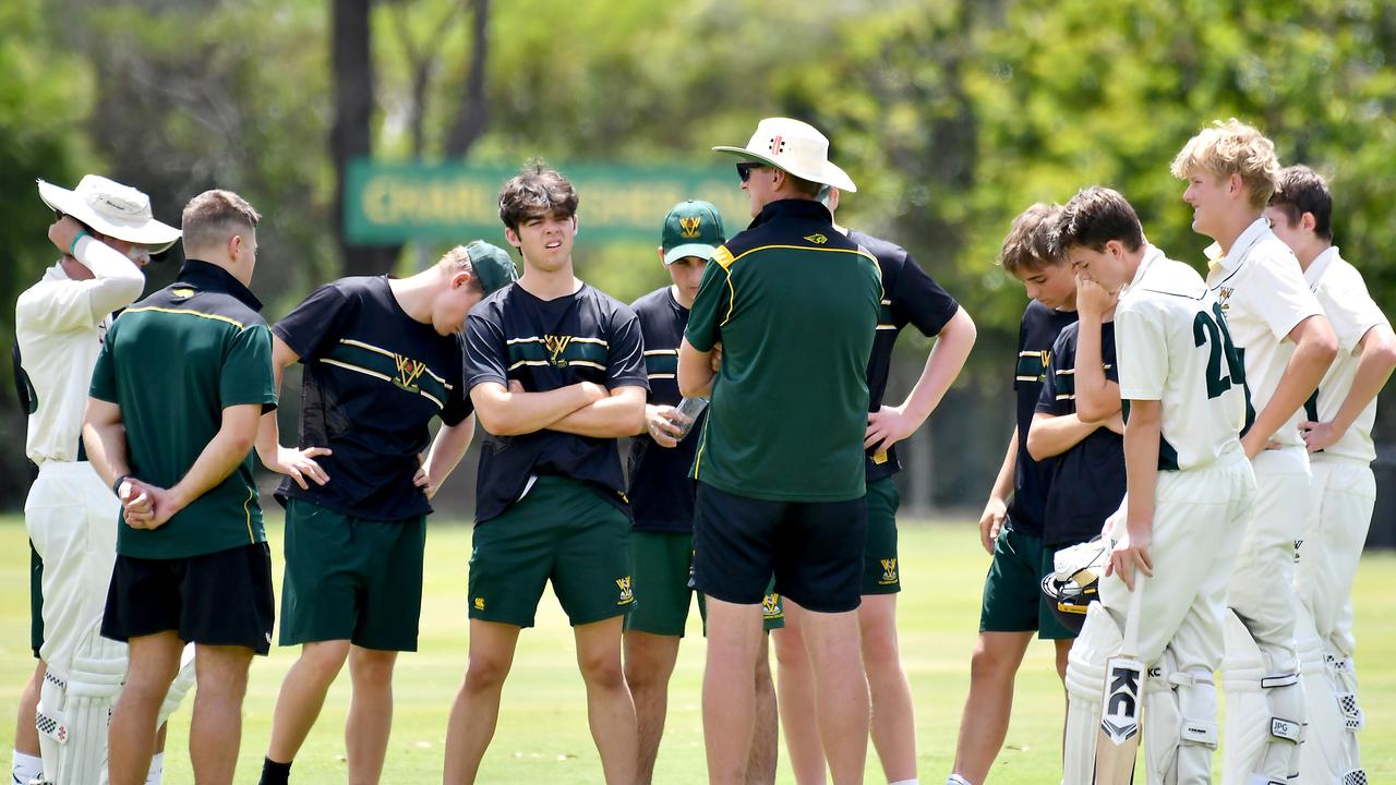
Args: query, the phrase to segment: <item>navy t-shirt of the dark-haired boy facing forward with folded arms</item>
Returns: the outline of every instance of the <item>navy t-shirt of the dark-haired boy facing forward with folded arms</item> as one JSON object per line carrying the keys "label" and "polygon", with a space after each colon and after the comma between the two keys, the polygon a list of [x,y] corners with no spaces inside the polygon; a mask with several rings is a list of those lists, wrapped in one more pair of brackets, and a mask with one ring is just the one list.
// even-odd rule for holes
{"label": "navy t-shirt of the dark-haired boy facing forward with folded arms", "polygon": [[[526,392],[578,381],[649,388],[639,318],[624,303],[584,284],[572,295],[540,300],[518,284],[475,306],[465,325],[465,383],[518,380]],[[535,475],[561,475],[596,486],[630,513],[614,439],[536,430],[486,434],[475,490],[475,522],[498,517]]]}

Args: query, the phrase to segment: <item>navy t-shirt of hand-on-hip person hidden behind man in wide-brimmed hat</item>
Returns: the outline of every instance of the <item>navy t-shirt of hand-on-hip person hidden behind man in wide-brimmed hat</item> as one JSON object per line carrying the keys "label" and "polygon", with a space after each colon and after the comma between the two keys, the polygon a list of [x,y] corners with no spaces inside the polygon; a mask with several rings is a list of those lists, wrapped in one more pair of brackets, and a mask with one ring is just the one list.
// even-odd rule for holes
{"label": "navy t-shirt of hand-on-hip person hidden behind man in wide-brimmed hat", "polygon": [[[882,310],[877,320],[872,355],[868,358],[868,412],[875,412],[882,406],[888,372],[892,369],[892,348],[896,346],[902,328],[914,324],[927,338],[940,335],[959,311],[959,303],[902,246],[857,229],[849,230],[849,239],[877,257],[878,267],[882,268]],[[902,471],[896,444],[882,455],[870,448],[866,462],[867,482]]]}

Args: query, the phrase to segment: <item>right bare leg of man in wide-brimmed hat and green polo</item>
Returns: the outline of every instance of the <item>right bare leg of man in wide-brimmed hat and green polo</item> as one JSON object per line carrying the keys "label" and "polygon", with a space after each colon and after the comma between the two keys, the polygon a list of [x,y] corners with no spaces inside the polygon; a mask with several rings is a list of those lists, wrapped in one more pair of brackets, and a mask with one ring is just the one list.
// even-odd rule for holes
{"label": "right bare leg of man in wide-brimmed hat and green polo", "polygon": [[819,740],[835,785],[863,782],[868,754],[868,686],[857,610],[804,616],[804,648],[814,665]]}

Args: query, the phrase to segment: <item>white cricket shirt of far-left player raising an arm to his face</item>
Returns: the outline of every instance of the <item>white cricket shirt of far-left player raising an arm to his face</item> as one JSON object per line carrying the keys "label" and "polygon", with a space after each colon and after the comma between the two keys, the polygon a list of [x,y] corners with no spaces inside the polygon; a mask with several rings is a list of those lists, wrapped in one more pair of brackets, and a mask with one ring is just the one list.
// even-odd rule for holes
{"label": "white cricket shirt of far-left player raising an arm to his face", "polygon": [[112,311],[145,288],[141,270],[112,246],[84,236],[74,251],[96,278],[74,281],[54,264],[14,306],[15,341],[38,398],[25,454],[39,465],[77,460],[88,384]]}

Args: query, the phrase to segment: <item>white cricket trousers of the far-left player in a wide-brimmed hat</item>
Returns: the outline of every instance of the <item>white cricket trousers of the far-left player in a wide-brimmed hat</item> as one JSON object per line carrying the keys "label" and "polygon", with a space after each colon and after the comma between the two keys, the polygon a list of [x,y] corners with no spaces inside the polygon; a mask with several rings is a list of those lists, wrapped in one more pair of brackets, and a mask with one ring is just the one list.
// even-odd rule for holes
{"label": "white cricket trousers of the far-left player in a wide-brimmed hat", "polygon": [[80,638],[102,617],[116,563],[120,504],[88,462],[46,461],[24,501],[24,522],[43,559],[39,656],[67,675]]}

